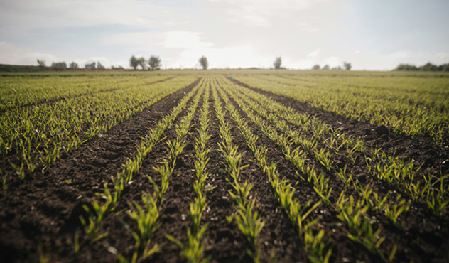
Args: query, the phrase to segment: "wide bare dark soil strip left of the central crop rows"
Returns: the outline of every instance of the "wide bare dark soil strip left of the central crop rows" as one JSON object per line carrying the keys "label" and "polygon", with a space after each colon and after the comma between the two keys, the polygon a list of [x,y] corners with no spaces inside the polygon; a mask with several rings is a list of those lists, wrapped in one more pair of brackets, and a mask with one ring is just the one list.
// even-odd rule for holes
{"label": "wide bare dark soil strip left of the central crop rows", "polygon": [[[4,204],[0,211],[0,252],[4,258],[26,259],[26,253],[36,253],[39,242],[71,244],[72,240],[64,238],[72,238],[75,228],[80,227],[82,205],[90,204],[103,184],[109,183],[109,176],[121,171],[121,164],[135,151],[141,137],[199,80],[64,154],[52,166],[29,174],[23,181],[9,183],[9,189],[0,192]],[[12,248],[23,252],[13,252]],[[57,250],[52,247],[52,252]]]}

